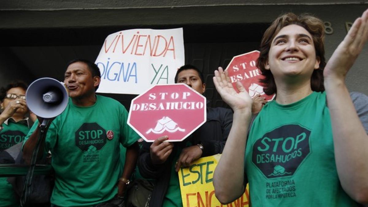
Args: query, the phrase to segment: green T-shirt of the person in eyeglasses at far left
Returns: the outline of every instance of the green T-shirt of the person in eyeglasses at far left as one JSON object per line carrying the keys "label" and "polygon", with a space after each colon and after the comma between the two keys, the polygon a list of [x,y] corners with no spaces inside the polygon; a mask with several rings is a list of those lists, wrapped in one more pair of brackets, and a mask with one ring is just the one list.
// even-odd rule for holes
{"label": "green T-shirt of the person in eyeglasses at far left", "polygon": [[[0,131],[0,152],[20,143],[29,131],[28,124],[15,123],[8,121],[8,124],[2,124]],[[16,199],[13,187],[7,181],[8,178],[0,178],[0,207],[19,206],[19,200]]]}

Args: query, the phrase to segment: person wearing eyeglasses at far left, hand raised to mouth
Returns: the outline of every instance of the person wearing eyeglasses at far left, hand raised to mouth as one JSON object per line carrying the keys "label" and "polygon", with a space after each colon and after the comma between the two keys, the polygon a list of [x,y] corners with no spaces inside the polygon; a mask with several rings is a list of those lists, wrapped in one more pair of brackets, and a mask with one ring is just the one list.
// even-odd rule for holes
{"label": "person wearing eyeglasses at far left, hand raised to mouth", "polygon": [[[28,133],[31,120],[26,117],[28,107],[25,92],[28,85],[23,81],[13,81],[0,88],[0,152],[21,143]],[[1,157],[1,156],[0,156]],[[7,178],[0,178],[0,207],[19,206],[13,187]]]}

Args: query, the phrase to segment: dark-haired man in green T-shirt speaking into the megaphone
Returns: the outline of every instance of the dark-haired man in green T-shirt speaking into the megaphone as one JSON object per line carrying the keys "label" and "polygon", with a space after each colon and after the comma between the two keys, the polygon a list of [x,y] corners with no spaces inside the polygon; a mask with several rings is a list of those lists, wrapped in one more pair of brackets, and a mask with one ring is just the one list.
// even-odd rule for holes
{"label": "dark-haired man in green T-shirt speaking into the megaphone", "polygon": [[[127,125],[128,112],[121,103],[95,94],[100,77],[98,66],[83,59],[72,60],[65,72],[70,98],[66,109],[47,123],[38,153],[39,158],[45,151],[52,153],[53,206],[124,203],[122,197],[138,157],[139,136]],[[28,163],[42,122],[39,117],[25,138],[23,152]],[[120,143],[127,148],[123,175],[119,175]]]}

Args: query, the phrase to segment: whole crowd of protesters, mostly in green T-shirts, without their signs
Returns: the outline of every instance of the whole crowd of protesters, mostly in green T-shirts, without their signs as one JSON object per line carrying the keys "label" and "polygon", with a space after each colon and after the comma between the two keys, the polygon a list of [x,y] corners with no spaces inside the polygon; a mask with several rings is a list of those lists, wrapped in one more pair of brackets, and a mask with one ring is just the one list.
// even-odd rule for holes
{"label": "whole crowd of protesters, mostly in green T-shirts, without their signs", "polygon": [[[252,99],[239,82],[236,92],[219,67],[213,83],[231,109],[207,107],[205,124],[178,143],[168,136],[142,141],[125,107],[96,94],[101,74],[89,60],[67,64],[68,105],[47,122],[44,137],[43,119],[26,104],[28,85],[14,81],[0,91],[0,164],[16,162],[15,147],[29,164],[41,139],[37,159],[50,156],[53,168],[46,206],[180,207],[177,172],[215,154],[222,157],[213,185],[224,204],[247,183],[252,206],[367,204],[368,97],[349,92],[345,78],[367,42],[368,10],[327,62],[324,38],[319,18],[280,15],[264,33],[257,61],[264,92],[275,99]],[[206,90],[201,70],[190,64],[178,69],[175,83]],[[20,206],[21,196],[0,178],[0,206]]]}

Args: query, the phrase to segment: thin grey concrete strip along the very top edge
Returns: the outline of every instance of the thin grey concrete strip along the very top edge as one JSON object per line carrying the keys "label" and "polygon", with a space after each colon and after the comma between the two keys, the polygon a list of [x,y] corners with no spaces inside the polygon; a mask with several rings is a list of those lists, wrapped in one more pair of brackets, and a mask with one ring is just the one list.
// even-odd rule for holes
{"label": "thin grey concrete strip along the very top edge", "polygon": [[225,5],[281,5],[281,4],[361,4],[362,0],[2,0],[0,10],[64,10],[64,9],[102,9],[102,8],[152,8],[152,7],[188,7],[188,6],[225,6]]}

